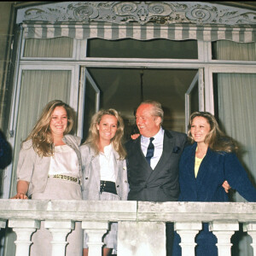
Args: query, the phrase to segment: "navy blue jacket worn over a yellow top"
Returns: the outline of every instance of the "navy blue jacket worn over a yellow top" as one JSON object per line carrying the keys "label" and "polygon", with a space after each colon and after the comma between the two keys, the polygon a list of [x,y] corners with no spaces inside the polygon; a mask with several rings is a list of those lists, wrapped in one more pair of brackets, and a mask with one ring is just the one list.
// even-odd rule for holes
{"label": "navy blue jacket worn over a yellow top", "polygon": [[225,180],[247,201],[256,201],[256,189],[236,154],[215,152],[208,148],[195,178],[196,146],[197,143],[194,143],[184,148],[179,162],[178,201],[229,201],[222,187]]}

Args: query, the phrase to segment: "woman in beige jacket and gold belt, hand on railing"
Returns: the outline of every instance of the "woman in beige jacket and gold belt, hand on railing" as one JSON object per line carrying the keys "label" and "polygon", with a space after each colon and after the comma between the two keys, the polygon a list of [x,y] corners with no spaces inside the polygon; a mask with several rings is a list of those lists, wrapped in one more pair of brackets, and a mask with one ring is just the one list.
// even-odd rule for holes
{"label": "woman in beige jacket and gold belt, hand on railing", "polygon": [[[22,143],[17,166],[17,194],[14,199],[82,200],[80,138],[69,135],[73,110],[66,103],[49,102],[30,135]],[[32,235],[31,256],[51,254],[51,234],[44,229]],[[68,256],[82,255],[80,223],[67,236]]]}

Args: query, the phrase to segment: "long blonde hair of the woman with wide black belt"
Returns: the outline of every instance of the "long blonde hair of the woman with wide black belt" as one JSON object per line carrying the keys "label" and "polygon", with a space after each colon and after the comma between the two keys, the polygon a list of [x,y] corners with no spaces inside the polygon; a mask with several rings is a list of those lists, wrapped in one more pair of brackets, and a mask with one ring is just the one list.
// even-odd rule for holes
{"label": "long blonde hair of the woman with wide black belt", "polygon": [[100,111],[98,111],[92,116],[90,121],[89,136],[84,142],[84,144],[90,143],[90,147],[96,151],[96,154],[99,154],[100,136],[99,136],[99,131],[97,130],[96,125],[100,124],[102,117],[105,114],[113,115],[117,119],[117,131],[114,137],[111,139],[111,143],[113,144],[113,148],[115,149],[115,151],[118,152],[120,159],[125,159],[126,152],[122,144],[125,125],[119,113],[113,108],[101,109]]}

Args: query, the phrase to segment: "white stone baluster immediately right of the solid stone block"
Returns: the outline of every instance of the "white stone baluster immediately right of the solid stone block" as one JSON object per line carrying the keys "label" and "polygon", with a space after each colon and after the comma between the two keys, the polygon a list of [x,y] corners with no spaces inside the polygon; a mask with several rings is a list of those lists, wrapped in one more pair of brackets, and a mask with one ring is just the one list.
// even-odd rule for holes
{"label": "white stone baluster immediately right of the solid stone block", "polygon": [[195,256],[195,235],[202,229],[201,222],[176,222],[174,230],[181,237],[182,255]]}

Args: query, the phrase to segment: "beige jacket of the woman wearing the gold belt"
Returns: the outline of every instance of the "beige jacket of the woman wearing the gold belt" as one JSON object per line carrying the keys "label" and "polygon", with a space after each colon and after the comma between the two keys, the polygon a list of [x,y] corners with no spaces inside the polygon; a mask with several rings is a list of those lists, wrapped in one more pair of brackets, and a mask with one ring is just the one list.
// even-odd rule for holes
{"label": "beige jacket of the woman wearing the gold belt", "polygon": [[[62,139],[70,148],[73,148],[79,159],[79,172],[82,177],[81,154],[79,145],[81,139],[73,135],[65,135]],[[22,143],[17,166],[17,182],[24,180],[29,183],[27,195],[35,192],[44,192],[49,172],[50,157],[40,157],[32,147],[32,140]]]}

